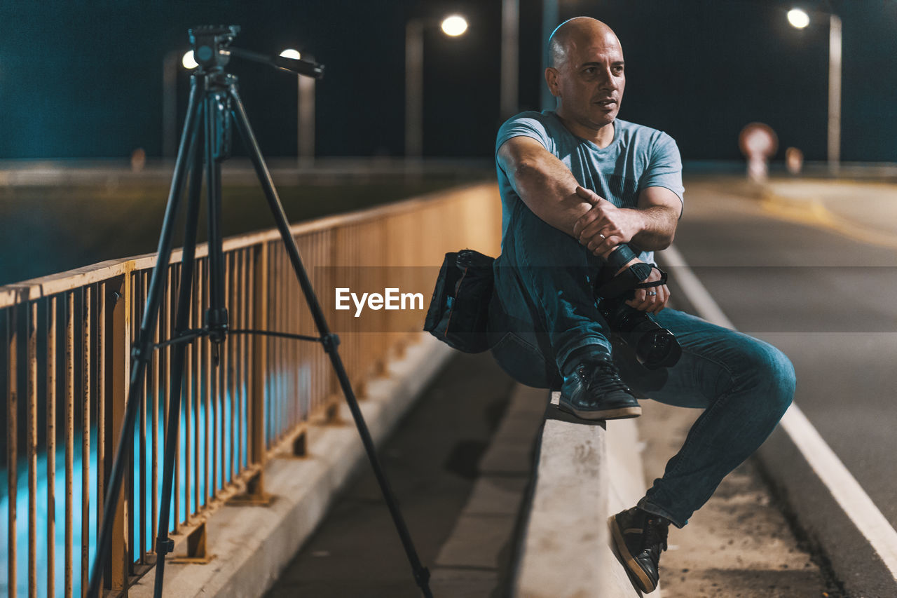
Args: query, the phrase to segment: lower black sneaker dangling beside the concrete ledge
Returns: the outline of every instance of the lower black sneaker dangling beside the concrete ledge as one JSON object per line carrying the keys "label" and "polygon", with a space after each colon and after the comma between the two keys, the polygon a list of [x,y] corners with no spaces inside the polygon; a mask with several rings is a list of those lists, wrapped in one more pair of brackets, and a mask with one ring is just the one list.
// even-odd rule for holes
{"label": "lower black sneaker dangling beside the concrete ledge", "polygon": [[645,594],[658,587],[660,553],[666,550],[669,522],[633,506],[610,518],[614,545],[632,582]]}

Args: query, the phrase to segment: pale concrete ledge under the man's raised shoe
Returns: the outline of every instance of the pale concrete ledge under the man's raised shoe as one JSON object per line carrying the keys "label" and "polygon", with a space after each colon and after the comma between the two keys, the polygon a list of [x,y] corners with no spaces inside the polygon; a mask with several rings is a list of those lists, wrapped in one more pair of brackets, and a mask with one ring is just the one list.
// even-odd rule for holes
{"label": "pale concrete ledge under the man's raised shoe", "polygon": [[607,527],[611,514],[634,506],[645,492],[635,422],[571,418],[554,407],[559,396],[554,393],[545,415],[514,595],[638,596],[614,557]]}

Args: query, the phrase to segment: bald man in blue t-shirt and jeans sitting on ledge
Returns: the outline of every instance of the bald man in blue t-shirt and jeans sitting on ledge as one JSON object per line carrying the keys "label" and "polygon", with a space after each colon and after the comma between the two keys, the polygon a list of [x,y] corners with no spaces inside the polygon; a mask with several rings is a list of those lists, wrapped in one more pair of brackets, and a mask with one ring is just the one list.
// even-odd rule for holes
{"label": "bald man in blue t-shirt and jeans sitting on ledge", "polygon": [[[640,415],[631,389],[704,409],[663,477],[610,519],[624,566],[651,592],[668,524],[683,527],[770,435],[794,394],[794,369],[767,343],[665,309],[666,279],[651,262],[682,215],[681,161],[670,136],[616,118],[626,79],[614,31],[570,19],[554,31],[549,55],[545,81],[557,110],[518,114],[496,141],[502,239],[492,354],[521,383],[560,387],[561,409],[579,418]],[[593,290],[602,277],[639,283],[627,303],[675,334],[678,363],[651,372],[612,347]]]}

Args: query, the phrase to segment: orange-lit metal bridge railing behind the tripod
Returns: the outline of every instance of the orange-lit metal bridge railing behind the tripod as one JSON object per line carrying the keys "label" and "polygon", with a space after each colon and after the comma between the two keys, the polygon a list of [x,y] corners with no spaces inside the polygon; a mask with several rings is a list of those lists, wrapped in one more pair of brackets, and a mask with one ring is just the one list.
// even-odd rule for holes
{"label": "orange-lit metal bridge railing behind the tripod", "polygon": [[[401,267],[428,267],[406,268],[405,274],[412,284],[431,289],[446,251],[471,247],[495,255],[500,232],[494,184],[292,226],[319,297],[333,293],[337,277],[341,286],[359,289],[395,286],[384,277]],[[231,328],[317,336],[276,231],[227,239],[223,249]],[[180,259],[175,251],[156,342],[173,330]],[[155,262],[155,255],[112,260],[0,286],[0,451],[6,456],[0,514],[5,505],[7,522],[0,539],[6,560],[0,593],[69,598],[86,590],[125,411],[130,347]],[[383,266],[389,268],[374,268]],[[191,327],[200,326],[208,304],[206,268],[204,245],[196,252]],[[374,328],[352,312],[328,314],[360,397],[365,380],[421,333],[423,313],[378,312]],[[126,593],[154,562],[170,351],[159,348],[147,367],[134,456],[106,566],[105,587],[114,593]],[[175,534],[205,521],[251,485],[270,455],[343,400],[326,354],[313,343],[233,334],[215,368],[210,341],[202,339],[187,349],[186,364],[170,530]]]}

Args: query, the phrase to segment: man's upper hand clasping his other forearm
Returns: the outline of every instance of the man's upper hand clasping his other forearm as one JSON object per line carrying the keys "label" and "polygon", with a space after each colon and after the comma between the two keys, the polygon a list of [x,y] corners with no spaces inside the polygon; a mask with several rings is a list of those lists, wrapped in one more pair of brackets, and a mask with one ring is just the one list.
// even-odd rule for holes
{"label": "man's upper hand clasping his other forearm", "polygon": [[614,206],[594,191],[576,188],[576,194],[592,204],[573,225],[573,235],[595,255],[607,257],[617,245],[627,243],[642,229],[638,210]]}

